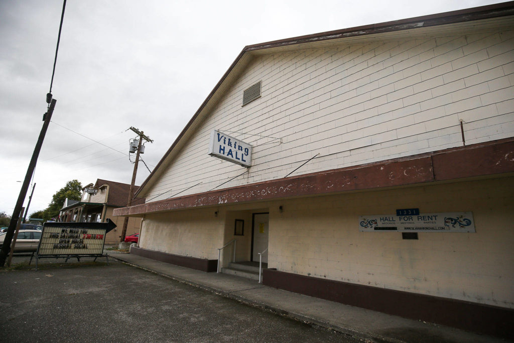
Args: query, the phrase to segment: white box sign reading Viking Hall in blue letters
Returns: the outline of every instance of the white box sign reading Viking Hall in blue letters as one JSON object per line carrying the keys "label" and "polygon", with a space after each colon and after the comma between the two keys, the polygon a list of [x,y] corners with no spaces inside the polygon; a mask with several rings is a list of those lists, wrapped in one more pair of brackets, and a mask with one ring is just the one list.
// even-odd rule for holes
{"label": "white box sign reading Viking Hall in blue letters", "polygon": [[213,130],[209,142],[209,155],[236,165],[251,167],[252,146],[237,138]]}

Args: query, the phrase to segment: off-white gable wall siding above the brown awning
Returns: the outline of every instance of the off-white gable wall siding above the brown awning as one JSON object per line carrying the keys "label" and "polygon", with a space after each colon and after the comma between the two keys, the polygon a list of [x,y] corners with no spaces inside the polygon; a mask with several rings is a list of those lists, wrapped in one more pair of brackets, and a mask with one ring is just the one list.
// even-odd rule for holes
{"label": "off-white gable wall siding above the brown awning", "polygon": [[[513,32],[257,55],[146,198],[199,182],[180,194],[209,191],[245,171],[207,155],[213,129],[253,146],[248,173],[223,187],[284,177],[316,154],[293,175],[460,146],[460,120],[466,143],[511,137]],[[242,107],[261,80],[262,97]]]}

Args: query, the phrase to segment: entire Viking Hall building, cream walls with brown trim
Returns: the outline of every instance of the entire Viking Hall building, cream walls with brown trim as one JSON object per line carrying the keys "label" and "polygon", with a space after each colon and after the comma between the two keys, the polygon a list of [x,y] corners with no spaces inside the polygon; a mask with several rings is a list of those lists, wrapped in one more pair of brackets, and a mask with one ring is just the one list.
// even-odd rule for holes
{"label": "entire Viking Hall building, cream walls with brown trim", "polygon": [[266,285],[512,336],[513,109],[512,2],[250,45],[114,214],[135,254],[235,239]]}

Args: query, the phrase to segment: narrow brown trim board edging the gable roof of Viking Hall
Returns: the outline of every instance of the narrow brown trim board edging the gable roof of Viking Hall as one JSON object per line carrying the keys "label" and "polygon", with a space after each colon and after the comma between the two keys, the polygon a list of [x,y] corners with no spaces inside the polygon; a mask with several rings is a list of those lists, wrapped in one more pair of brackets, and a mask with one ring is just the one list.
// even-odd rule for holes
{"label": "narrow brown trim board edging the gable roof of Viking Hall", "polygon": [[178,144],[178,141],[182,138],[183,135],[186,134],[189,127],[193,124],[196,118],[199,116],[201,111],[205,109],[211,98],[214,96],[218,88],[223,84],[223,82],[230,75],[231,71],[237,65],[237,63],[243,58],[246,52],[254,51],[254,50],[262,50],[280,46],[287,45],[296,45],[303,44],[309,42],[319,42],[333,39],[341,39],[346,37],[356,37],[359,35],[368,35],[373,33],[382,33],[382,32],[392,32],[392,31],[400,31],[406,29],[420,28],[420,27],[429,27],[429,26],[437,26],[437,25],[445,25],[451,23],[460,23],[460,22],[468,22],[474,20],[481,19],[489,19],[494,17],[501,17],[507,15],[514,14],[514,1],[486,5],[480,7],[467,8],[463,10],[443,12],[438,14],[424,15],[413,17],[409,19],[396,20],[391,22],[384,22],[372,25],[363,25],[358,27],[346,28],[342,30],[335,31],[326,31],[321,33],[303,35],[299,37],[293,37],[288,39],[282,39],[277,41],[271,41],[266,43],[259,43],[253,45],[247,45],[243,48],[240,54],[236,57],[234,62],[230,65],[228,70],[225,72],[221,80],[214,86],[211,93],[207,96],[204,102],[200,105],[196,113],[193,115],[191,120],[186,124],[186,127],[180,132],[177,136],[171,147],[168,151],[162,156],[162,158],[157,163],[157,166],[152,170],[150,175],[146,177],[144,182],[141,184],[139,189],[135,192],[135,197],[139,195],[139,192],[148,184],[149,180],[154,176],[155,172],[159,169],[159,167],[163,164],[166,157],[171,153],[171,151]]}

